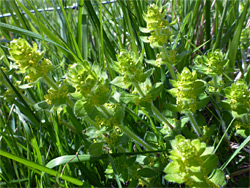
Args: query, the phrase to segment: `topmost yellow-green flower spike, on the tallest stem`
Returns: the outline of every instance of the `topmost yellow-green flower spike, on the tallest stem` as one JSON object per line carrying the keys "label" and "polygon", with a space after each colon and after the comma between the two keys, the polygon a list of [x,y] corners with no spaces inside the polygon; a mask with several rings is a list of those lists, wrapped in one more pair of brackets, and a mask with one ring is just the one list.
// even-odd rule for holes
{"label": "topmost yellow-green flower spike, on the tallest stem", "polygon": [[148,7],[147,14],[144,19],[147,22],[147,30],[151,33],[149,41],[151,46],[162,46],[167,43],[171,36],[169,30],[169,22],[165,19],[166,10],[162,12],[162,8],[158,8],[156,4]]}

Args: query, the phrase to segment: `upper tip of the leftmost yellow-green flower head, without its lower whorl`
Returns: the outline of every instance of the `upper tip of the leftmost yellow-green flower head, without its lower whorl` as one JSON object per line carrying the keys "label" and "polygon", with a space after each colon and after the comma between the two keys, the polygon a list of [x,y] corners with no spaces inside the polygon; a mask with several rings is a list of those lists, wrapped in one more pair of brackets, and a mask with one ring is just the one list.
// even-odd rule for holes
{"label": "upper tip of the leftmost yellow-green flower head, without its lower whorl", "polygon": [[19,72],[24,73],[30,68],[37,68],[38,62],[43,57],[44,51],[38,51],[36,43],[33,43],[33,47],[31,47],[24,39],[14,39],[10,42],[9,53],[11,59],[18,65]]}

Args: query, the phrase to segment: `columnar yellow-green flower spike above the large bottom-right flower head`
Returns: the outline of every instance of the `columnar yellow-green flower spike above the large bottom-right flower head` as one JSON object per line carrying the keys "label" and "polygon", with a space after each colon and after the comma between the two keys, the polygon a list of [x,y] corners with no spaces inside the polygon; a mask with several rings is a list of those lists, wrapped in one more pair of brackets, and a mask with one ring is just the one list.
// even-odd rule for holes
{"label": "columnar yellow-green flower spike above the large bottom-right flower head", "polygon": [[169,93],[176,97],[179,112],[197,110],[197,97],[204,91],[204,82],[197,80],[196,71],[190,72],[184,68],[181,74],[177,74],[178,81],[171,80],[173,89]]}

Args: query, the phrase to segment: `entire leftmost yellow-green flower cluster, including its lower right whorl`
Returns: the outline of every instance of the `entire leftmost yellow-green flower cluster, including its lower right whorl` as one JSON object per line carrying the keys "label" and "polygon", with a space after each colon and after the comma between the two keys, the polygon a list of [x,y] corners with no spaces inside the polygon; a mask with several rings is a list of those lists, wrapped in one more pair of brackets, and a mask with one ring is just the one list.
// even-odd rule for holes
{"label": "entire leftmost yellow-green flower cluster, including its lower right whorl", "polygon": [[52,69],[52,63],[43,59],[44,51],[37,50],[37,44],[31,47],[24,39],[14,39],[10,42],[10,59],[15,61],[19,73],[27,73],[25,79],[34,82]]}

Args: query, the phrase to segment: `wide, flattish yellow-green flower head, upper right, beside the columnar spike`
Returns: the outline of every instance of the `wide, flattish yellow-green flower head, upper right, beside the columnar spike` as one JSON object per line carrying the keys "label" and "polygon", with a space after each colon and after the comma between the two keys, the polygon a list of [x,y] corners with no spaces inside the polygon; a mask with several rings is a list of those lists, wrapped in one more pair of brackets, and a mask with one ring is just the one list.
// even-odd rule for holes
{"label": "wide, flattish yellow-green flower head, upper right, beside the columnar spike", "polygon": [[207,55],[197,56],[194,60],[194,68],[209,76],[221,75],[225,71],[228,60],[220,50],[208,52]]}

